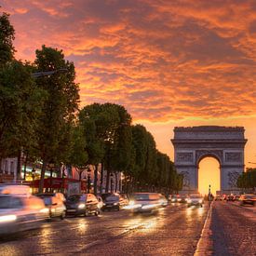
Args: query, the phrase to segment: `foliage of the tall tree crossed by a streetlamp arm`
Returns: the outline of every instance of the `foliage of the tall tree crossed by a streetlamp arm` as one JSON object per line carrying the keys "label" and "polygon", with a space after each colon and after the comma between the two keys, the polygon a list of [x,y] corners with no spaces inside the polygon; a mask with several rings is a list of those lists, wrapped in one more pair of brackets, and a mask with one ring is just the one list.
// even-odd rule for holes
{"label": "foliage of the tall tree crossed by a streetlamp arm", "polygon": [[58,158],[60,150],[63,152],[63,147],[69,146],[66,138],[70,135],[70,127],[78,109],[78,85],[74,82],[74,64],[64,60],[61,50],[43,46],[41,50],[36,50],[34,64],[37,72],[67,69],[66,74],[56,73],[36,79],[38,87],[45,89],[48,94],[47,100],[44,101],[42,115],[38,118],[40,127],[37,134],[39,155],[42,159],[49,161],[53,155]]}

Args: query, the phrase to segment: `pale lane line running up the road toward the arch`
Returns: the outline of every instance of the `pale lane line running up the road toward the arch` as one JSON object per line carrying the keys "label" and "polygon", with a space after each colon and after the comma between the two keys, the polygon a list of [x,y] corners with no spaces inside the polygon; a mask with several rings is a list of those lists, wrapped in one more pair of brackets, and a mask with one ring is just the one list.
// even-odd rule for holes
{"label": "pale lane line running up the road toward the arch", "polygon": [[194,256],[213,255],[213,242],[211,239],[212,232],[209,228],[211,222],[212,205],[210,204],[208,215],[201,232],[201,236],[197,242]]}

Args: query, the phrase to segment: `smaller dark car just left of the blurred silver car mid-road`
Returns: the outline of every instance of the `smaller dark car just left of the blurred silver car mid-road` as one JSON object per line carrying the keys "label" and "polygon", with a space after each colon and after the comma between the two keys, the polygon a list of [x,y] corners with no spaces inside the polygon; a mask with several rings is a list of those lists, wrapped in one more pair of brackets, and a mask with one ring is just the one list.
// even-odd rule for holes
{"label": "smaller dark car just left of the blurred silver car mid-road", "polygon": [[102,210],[120,210],[128,205],[128,198],[125,195],[103,194],[101,197],[103,199]]}

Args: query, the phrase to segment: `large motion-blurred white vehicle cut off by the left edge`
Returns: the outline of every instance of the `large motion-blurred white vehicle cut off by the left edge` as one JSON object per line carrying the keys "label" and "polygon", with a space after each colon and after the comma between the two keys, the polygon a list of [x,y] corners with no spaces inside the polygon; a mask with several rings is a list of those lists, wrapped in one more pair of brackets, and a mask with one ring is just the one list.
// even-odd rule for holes
{"label": "large motion-blurred white vehicle cut off by the left edge", "polygon": [[42,199],[29,193],[30,187],[0,187],[0,236],[38,228],[48,218]]}

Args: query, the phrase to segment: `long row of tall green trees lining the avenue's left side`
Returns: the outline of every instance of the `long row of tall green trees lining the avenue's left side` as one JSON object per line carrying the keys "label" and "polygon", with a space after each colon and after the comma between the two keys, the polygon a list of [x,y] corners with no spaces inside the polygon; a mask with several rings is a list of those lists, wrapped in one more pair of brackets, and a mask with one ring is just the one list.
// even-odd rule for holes
{"label": "long row of tall green trees lining the avenue's left side", "polygon": [[[63,52],[45,47],[34,62],[17,61],[14,28],[6,13],[0,16],[0,160],[18,156],[41,161],[43,190],[47,166],[74,166],[80,178],[89,165],[101,164],[109,177],[125,174],[127,190],[146,187],[180,190],[178,175],[168,155],[155,148],[153,136],[120,105],[94,103],[78,109],[79,88],[74,63]],[[101,168],[101,169],[102,169]],[[95,176],[97,177],[97,175]],[[102,178],[102,175],[101,175]],[[102,183],[102,181],[101,181]],[[95,191],[97,179],[95,179]]]}

